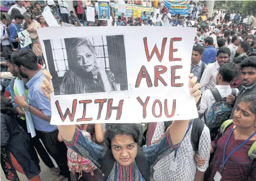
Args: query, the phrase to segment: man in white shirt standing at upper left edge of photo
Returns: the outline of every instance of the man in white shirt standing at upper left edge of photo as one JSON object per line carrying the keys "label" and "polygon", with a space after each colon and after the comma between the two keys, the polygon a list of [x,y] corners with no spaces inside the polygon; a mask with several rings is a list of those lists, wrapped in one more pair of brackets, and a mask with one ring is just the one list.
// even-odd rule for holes
{"label": "man in white shirt standing at upper left edge of photo", "polygon": [[10,41],[9,41],[9,36],[7,33],[7,30],[5,29],[5,26],[3,24],[3,22],[5,21],[6,17],[4,14],[1,13],[1,17],[0,17],[0,40],[1,40],[1,52],[2,52],[2,56],[3,58],[6,60],[8,59],[8,56],[11,55],[12,53],[12,48],[10,45]]}

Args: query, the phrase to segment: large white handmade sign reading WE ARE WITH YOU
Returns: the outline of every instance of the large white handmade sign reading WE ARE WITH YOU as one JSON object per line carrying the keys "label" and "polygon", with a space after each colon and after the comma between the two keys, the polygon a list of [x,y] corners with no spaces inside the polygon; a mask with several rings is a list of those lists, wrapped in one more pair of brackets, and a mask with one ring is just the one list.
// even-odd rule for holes
{"label": "large white handmade sign reading WE ARE WITH YOU", "polygon": [[188,77],[195,33],[157,26],[39,28],[53,77],[51,124],[197,118]]}

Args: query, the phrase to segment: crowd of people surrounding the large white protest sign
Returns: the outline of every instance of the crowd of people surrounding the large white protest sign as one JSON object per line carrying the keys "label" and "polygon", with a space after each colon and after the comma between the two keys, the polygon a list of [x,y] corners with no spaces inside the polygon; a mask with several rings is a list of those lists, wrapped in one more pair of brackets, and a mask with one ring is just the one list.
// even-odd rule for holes
{"label": "crowd of people surrounding the large white protest sign", "polygon": [[[40,157],[56,175],[54,181],[255,181],[256,15],[218,9],[210,16],[206,4],[193,1],[188,16],[171,15],[158,0],[111,2],[154,7],[160,14],[116,17],[110,6],[109,20],[99,20],[97,1],[73,1],[75,11],[69,11],[64,0],[2,2],[10,16],[0,15],[0,156],[6,179],[20,181],[18,171],[30,181],[42,180]],[[87,6],[95,7],[95,21],[86,20]],[[38,28],[48,26],[42,16],[47,9],[58,24],[74,26],[155,26],[161,22],[162,26],[195,27],[189,86],[198,118],[51,125],[52,77],[37,34]],[[23,30],[32,43],[21,48],[18,33]],[[76,49],[92,46],[84,39],[74,43]],[[19,95],[15,80],[23,82],[25,95]],[[61,90],[65,87],[61,85]],[[115,85],[108,88],[114,90]],[[34,123],[33,138],[26,112]]]}

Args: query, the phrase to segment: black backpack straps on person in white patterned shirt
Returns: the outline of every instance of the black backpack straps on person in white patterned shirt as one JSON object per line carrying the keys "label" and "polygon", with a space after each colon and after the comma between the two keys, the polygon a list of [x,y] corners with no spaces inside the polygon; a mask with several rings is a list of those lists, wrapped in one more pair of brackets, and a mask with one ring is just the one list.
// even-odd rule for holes
{"label": "black backpack straps on person in white patterned shirt", "polygon": [[[172,121],[165,121],[165,132],[167,128],[171,125]],[[204,122],[199,118],[194,119],[191,131],[191,143],[193,151],[198,151],[199,140],[204,130]]]}

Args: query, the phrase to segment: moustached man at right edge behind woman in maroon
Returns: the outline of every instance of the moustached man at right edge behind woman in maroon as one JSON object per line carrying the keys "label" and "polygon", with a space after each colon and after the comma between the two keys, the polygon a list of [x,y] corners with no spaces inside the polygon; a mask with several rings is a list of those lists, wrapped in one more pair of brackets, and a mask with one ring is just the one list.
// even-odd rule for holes
{"label": "moustached man at right edge behind woman in maroon", "polygon": [[251,56],[244,59],[240,63],[240,67],[243,86],[237,94],[237,97],[232,95],[227,96],[227,102],[229,104],[235,103],[230,119],[233,119],[235,109],[243,97],[256,94],[256,56]]}

